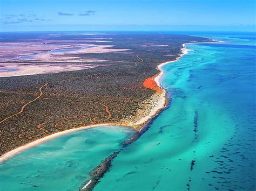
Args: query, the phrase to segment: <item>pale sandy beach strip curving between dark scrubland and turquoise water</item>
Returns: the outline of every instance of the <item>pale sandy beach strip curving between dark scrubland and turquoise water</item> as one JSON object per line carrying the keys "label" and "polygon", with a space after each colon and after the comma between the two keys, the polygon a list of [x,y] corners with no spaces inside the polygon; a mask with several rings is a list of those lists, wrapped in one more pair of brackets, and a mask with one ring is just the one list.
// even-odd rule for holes
{"label": "pale sandy beach strip curving between dark scrubland and turquoise water", "polygon": [[[39,144],[42,144],[44,142],[47,142],[48,140],[72,133],[72,132],[76,132],[76,131],[80,131],[80,130],[85,130],[85,129],[90,129],[90,128],[96,128],[96,127],[100,127],[100,126],[126,126],[126,127],[130,127],[133,128],[134,130],[140,132],[143,130],[144,126],[149,123],[154,117],[156,117],[159,112],[161,110],[163,110],[168,102],[168,99],[166,97],[166,90],[161,87],[160,85],[160,79],[164,74],[164,70],[161,69],[161,67],[163,67],[164,65],[167,65],[168,63],[172,63],[172,62],[176,62],[178,61],[183,55],[188,53],[188,49],[185,47],[185,44],[181,45],[181,54],[173,61],[167,61],[164,63],[160,63],[160,65],[157,66],[156,69],[160,70],[160,72],[156,75],[156,77],[154,77],[154,81],[156,81],[157,85],[161,88],[161,93],[156,93],[159,95],[158,100],[156,100],[157,104],[150,110],[149,113],[147,113],[146,116],[140,118],[137,122],[135,123],[106,123],[106,124],[95,124],[95,125],[88,125],[88,126],[82,126],[80,128],[75,128],[75,129],[69,129],[69,130],[65,130],[65,131],[61,131],[61,132],[57,132],[57,133],[53,133],[52,135],[37,139],[31,143],[25,144],[23,146],[17,147],[14,150],[11,150],[5,154],[3,154],[0,157],[0,162],[3,162],[11,157],[14,157],[15,155],[17,155],[18,153],[21,153],[22,151],[37,146]],[[154,95],[156,95],[154,94]],[[138,128],[139,127],[139,128]]]}

